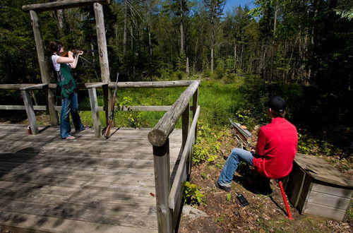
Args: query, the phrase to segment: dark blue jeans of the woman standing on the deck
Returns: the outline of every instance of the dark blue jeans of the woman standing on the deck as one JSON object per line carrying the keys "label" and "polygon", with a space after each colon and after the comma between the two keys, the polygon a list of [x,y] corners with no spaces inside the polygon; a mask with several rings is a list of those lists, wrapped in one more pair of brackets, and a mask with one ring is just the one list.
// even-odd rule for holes
{"label": "dark blue jeans of the woman standing on the deck", "polygon": [[60,136],[61,138],[67,138],[71,133],[71,125],[69,115],[71,113],[73,126],[76,131],[84,129],[81,123],[80,115],[78,114],[78,98],[77,93],[71,95],[71,97],[63,97],[61,100],[61,114],[60,114]]}

